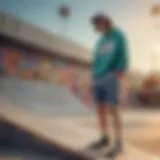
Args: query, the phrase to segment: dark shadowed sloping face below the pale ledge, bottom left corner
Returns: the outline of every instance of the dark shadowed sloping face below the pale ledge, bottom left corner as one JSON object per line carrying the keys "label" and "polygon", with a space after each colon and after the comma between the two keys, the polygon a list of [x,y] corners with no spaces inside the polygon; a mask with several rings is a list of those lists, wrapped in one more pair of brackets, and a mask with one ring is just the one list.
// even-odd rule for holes
{"label": "dark shadowed sloping face below the pale ledge, bottom left corner", "polygon": [[55,144],[32,135],[5,120],[1,121],[0,130],[0,157],[17,157],[18,155],[24,159],[31,158],[35,160],[38,160],[38,157],[41,157],[42,160],[84,159],[82,156],[79,157],[77,154],[66,152]]}

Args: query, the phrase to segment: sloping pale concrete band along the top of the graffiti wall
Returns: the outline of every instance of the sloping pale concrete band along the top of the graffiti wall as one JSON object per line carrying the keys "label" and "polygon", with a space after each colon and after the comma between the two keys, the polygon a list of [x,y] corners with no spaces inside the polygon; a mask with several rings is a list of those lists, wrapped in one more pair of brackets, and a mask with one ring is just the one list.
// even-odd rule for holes
{"label": "sloping pale concrete band along the top of the graffiti wall", "polygon": [[43,48],[48,52],[56,52],[61,56],[86,63],[92,62],[90,49],[4,12],[0,12],[0,34],[16,41]]}

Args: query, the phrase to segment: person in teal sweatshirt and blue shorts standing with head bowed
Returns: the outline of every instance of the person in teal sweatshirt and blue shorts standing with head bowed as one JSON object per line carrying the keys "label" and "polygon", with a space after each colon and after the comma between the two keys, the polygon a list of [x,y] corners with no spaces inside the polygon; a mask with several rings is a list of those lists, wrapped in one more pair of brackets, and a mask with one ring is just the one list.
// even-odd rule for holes
{"label": "person in teal sweatshirt and blue shorts standing with head bowed", "polygon": [[101,129],[101,138],[91,145],[100,149],[110,142],[107,118],[113,118],[115,145],[106,156],[116,156],[123,150],[122,122],[118,111],[120,78],[128,69],[129,53],[125,34],[105,14],[96,14],[92,25],[100,34],[96,44],[93,61],[93,95],[97,106],[97,116]]}

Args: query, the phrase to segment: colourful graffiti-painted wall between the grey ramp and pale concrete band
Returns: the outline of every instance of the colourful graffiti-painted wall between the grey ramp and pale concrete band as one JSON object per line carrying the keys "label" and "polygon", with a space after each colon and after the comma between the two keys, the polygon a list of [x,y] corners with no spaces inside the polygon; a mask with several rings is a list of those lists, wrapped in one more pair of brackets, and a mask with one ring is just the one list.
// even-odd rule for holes
{"label": "colourful graffiti-painted wall between the grey ramp and pale concrete band", "polygon": [[91,103],[90,71],[78,64],[69,63],[67,60],[1,45],[0,75],[66,86],[83,103]]}

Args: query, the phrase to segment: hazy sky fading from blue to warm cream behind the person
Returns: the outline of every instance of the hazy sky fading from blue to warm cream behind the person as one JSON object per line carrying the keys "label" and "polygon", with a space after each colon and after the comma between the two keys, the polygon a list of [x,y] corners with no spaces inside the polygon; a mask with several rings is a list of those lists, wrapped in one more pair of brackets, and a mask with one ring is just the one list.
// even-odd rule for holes
{"label": "hazy sky fading from blue to warm cream behind the person", "polygon": [[[97,39],[90,18],[97,12],[111,16],[117,26],[126,32],[131,52],[131,67],[148,71],[151,68],[151,52],[159,44],[159,33],[154,28],[150,8],[160,0],[0,0],[0,11],[5,11],[59,35],[65,33],[88,48]],[[70,17],[63,21],[58,8],[66,4]],[[158,55],[160,59],[160,54]],[[160,69],[160,66],[159,66]]]}

